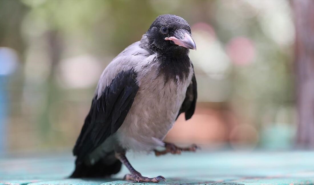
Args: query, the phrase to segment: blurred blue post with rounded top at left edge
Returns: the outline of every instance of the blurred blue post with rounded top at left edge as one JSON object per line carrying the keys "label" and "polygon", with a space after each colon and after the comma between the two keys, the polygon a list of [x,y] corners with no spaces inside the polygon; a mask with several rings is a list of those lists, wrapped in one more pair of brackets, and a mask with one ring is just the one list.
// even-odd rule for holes
{"label": "blurred blue post with rounded top at left edge", "polygon": [[0,47],[0,153],[5,152],[6,124],[8,113],[8,76],[18,65],[18,57],[13,49]]}

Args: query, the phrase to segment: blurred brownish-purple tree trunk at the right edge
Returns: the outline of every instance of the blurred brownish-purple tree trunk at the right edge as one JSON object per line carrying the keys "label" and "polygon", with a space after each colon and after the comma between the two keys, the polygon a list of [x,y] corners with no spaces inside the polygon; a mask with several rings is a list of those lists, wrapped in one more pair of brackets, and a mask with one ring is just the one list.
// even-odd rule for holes
{"label": "blurred brownish-purple tree trunk at the right edge", "polygon": [[314,1],[294,0],[292,7],[296,28],[297,143],[314,148]]}

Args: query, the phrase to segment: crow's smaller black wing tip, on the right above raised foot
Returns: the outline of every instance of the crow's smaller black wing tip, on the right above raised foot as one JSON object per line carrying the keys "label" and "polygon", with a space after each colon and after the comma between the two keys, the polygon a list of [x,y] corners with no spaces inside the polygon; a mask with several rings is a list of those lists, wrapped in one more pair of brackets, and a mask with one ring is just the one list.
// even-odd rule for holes
{"label": "crow's smaller black wing tip, on the right above raised foot", "polygon": [[196,99],[197,99],[197,84],[196,84],[195,73],[193,70],[193,77],[191,80],[191,84],[187,87],[185,99],[181,105],[177,118],[182,112],[185,112],[185,119],[186,120],[190,119],[194,114]]}

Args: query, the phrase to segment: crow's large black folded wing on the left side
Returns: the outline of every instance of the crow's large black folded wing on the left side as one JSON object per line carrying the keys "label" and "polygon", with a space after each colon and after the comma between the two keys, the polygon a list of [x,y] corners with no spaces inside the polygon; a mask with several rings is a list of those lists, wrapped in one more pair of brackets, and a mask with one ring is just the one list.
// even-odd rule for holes
{"label": "crow's large black folded wing on the left side", "polygon": [[92,100],[82,131],[76,141],[73,154],[76,163],[95,150],[106,138],[114,134],[122,125],[138,91],[136,72],[122,71],[111,81],[102,95]]}

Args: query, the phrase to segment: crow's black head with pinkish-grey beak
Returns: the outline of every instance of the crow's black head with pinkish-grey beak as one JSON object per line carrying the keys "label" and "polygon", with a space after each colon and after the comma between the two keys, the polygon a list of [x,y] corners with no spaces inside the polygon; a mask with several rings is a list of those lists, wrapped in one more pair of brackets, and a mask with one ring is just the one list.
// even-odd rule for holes
{"label": "crow's black head with pinkish-grey beak", "polygon": [[191,27],[183,18],[164,14],[158,16],[149,30],[145,33],[148,38],[148,46],[154,52],[163,54],[174,52],[186,52],[188,49],[196,49],[191,36]]}

